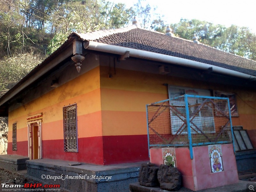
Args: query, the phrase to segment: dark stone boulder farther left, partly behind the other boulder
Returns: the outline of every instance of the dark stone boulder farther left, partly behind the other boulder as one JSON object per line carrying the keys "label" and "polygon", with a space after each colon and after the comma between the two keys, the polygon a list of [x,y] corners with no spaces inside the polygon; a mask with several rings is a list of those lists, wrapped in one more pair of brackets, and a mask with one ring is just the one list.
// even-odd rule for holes
{"label": "dark stone boulder farther left, partly behind the other boulder", "polygon": [[139,172],[139,183],[145,187],[159,187],[157,172],[159,167],[153,163],[141,164]]}

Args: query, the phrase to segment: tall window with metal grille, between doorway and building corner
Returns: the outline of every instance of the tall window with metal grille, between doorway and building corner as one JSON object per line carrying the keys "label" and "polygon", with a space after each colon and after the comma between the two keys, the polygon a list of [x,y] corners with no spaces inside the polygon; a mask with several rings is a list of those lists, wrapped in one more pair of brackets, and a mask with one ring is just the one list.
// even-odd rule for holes
{"label": "tall window with metal grille, between doorway and building corner", "polygon": [[76,104],[63,107],[64,151],[78,152]]}

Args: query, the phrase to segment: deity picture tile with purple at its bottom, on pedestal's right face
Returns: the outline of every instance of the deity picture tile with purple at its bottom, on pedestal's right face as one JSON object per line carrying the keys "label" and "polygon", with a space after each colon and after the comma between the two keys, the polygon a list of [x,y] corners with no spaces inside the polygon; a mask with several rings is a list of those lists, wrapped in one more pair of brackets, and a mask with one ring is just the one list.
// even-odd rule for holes
{"label": "deity picture tile with purple at its bottom, on pedestal's right face", "polygon": [[221,172],[223,170],[221,145],[208,145],[211,172]]}

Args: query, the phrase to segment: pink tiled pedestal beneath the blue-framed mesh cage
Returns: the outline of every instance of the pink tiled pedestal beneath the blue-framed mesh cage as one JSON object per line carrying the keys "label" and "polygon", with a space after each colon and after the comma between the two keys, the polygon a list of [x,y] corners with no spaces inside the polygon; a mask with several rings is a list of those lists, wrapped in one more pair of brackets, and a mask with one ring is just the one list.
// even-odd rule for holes
{"label": "pink tiled pedestal beneath the blue-framed mesh cage", "polygon": [[[222,154],[221,159],[218,159],[222,166],[217,171],[213,170],[213,163],[211,164],[212,160],[210,158],[212,154],[209,152],[209,148],[213,146],[216,148],[216,145],[193,147],[193,159],[190,159],[190,152],[187,147],[169,148],[173,159],[176,160],[175,167],[182,174],[182,184],[184,187],[193,191],[199,191],[238,182],[233,145],[217,145],[222,148],[222,150],[219,147],[217,148]],[[163,148],[164,151],[167,149]],[[215,150],[217,151],[217,149]],[[162,148],[150,148],[150,162],[157,165],[164,164],[163,150]]]}

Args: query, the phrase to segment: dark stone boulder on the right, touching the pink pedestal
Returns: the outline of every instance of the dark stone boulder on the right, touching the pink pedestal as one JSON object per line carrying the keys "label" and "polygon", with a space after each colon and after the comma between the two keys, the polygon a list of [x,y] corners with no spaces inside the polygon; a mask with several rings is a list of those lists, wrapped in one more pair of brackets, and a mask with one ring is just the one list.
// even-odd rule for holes
{"label": "dark stone boulder on the right, touching the pink pedestal", "polygon": [[165,190],[179,190],[181,188],[181,173],[175,168],[168,165],[160,165],[157,172],[157,178],[160,188]]}

